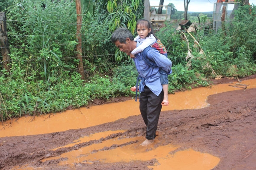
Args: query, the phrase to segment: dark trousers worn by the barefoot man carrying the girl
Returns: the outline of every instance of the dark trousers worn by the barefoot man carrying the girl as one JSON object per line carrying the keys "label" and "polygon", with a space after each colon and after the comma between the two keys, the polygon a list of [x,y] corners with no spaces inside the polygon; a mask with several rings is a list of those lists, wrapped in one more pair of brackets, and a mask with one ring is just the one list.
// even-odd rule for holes
{"label": "dark trousers worn by the barefoot man carrying the girl", "polygon": [[140,94],[139,110],[141,116],[147,126],[146,139],[156,138],[156,129],[162,109],[162,101],[164,98],[164,92],[162,91],[159,96],[154,94],[147,86]]}

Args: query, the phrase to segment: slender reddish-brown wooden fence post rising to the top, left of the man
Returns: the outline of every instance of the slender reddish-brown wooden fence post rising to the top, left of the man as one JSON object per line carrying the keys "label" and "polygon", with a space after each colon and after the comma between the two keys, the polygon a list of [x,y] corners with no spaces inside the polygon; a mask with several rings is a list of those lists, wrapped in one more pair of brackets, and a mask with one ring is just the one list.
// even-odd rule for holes
{"label": "slender reddish-brown wooden fence post rising to the top, left of the man", "polygon": [[76,38],[78,41],[77,47],[77,57],[79,60],[78,72],[81,75],[81,79],[84,80],[84,64],[82,58],[82,38],[81,38],[81,25],[82,25],[82,14],[81,14],[81,0],[76,0],[76,11],[77,11],[77,33]]}

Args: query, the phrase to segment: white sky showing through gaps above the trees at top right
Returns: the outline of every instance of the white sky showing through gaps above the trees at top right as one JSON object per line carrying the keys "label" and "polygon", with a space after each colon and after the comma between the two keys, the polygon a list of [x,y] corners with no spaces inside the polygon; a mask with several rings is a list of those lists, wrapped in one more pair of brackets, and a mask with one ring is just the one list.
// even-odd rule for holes
{"label": "white sky showing through gaps above the trees at top right", "polygon": [[[160,0],[149,0],[150,6],[158,6]],[[211,12],[217,0],[190,0],[188,12]],[[184,0],[165,0],[164,5],[173,3],[178,11],[184,11]],[[249,0],[250,4],[256,5],[256,0]]]}

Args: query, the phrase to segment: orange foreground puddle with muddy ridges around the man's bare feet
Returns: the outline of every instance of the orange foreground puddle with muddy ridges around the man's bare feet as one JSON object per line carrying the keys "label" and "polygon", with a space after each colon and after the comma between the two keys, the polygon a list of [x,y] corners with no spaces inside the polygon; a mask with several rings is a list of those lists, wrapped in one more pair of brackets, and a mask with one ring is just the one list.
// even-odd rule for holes
{"label": "orange foreground puddle with muddy ridges around the man's bare feet", "polygon": [[[93,134],[91,136],[82,137],[73,141],[74,143],[62,146],[66,148],[86,142],[88,140],[99,139],[100,136],[107,136],[121,131],[107,131]],[[43,159],[42,162],[59,160],[59,166],[65,166],[72,169],[72,165],[80,164],[94,164],[94,162],[102,163],[116,163],[116,162],[130,162],[130,161],[150,161],[156,159],[157,163],[153,166],[148,166],[153,170],[211,170],[220,161],[218,157],[211,154],[201,153],[192,149],[184,151],[176,151],[180,146],[165,145],[157,148],[143,147],[140,144],[143,142],[142,137],[118,139],[113,138],[102,143],[97,143],[82,147],[78,150],[73,150],[61,154],[57,157],[49,157]],[[132,141],[132,142],[131,142]],[[111,147],[114,145],[124,145],[123,147]],[[155,140],[158,143],[158,140]],[[109,149],[108,149],[109,148]],[[55,148],[53,150],[57,150]],[[41,169],[37,168],[37,169]],[[29,167],[19,167],[15,170],[27,170]],[[31,167],[32,169],[32,167]]]}

